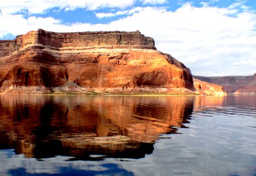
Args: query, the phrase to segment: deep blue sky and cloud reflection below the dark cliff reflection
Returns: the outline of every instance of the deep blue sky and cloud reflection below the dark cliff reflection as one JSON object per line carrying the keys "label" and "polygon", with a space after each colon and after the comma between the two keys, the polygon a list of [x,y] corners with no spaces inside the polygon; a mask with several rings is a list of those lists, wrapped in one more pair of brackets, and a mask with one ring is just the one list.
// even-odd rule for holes
{"label": "deep blue sky and cloud reflection below the dark cliff reflection", "polygon": [[[125,174],[132,172],[119,168],[117,164],[109,164],[107,161],[67,161],[71,157],[56,156],[38,161],[35,158],[25,158],[23,154],[15,155],[12,150],[0,150],[0,175],[13,174]],[[112,162],[113,163],[113,162]],[[68,170],[65,168],[69,168]]]}

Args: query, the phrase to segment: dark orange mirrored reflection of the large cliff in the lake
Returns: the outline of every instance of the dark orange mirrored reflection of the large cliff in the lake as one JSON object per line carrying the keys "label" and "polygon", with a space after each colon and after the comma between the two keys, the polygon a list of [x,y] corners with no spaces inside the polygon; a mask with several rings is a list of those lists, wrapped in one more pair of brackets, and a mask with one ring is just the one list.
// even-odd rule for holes
{"label": "dark orange mirrored reflection of the large cliff in the lake", "polygon": [[184,127],[194,97],[0,95],[0,148],[26,157],[141,158]]}

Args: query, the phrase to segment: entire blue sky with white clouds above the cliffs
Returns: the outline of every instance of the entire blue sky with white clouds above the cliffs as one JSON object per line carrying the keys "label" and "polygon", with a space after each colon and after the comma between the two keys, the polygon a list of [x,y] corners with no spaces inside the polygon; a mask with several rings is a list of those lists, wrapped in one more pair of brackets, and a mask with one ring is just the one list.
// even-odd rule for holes
{"label": "entire blue sky with white clouds above the cliffs", "polygon": [[136,31],[193,75],[256,72],[254,0],[0,0],[0,39],[54,32]]}

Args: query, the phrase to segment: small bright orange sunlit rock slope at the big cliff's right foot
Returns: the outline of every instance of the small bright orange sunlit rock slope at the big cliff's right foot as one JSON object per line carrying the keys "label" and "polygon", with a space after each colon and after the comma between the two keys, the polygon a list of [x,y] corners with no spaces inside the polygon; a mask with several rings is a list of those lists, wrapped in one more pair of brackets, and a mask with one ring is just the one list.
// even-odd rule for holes
{"label": "small bright orange sunlit rock slope at the big cliff's right foot", "polygon": [[203,82],[196,78],[193,78],[194,87],[197,89],[198,94],[214,95],[214,96],[224,96],[227,93],[224,91],[223,87],[213,84]]}

